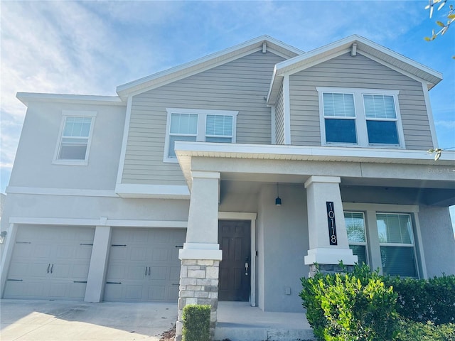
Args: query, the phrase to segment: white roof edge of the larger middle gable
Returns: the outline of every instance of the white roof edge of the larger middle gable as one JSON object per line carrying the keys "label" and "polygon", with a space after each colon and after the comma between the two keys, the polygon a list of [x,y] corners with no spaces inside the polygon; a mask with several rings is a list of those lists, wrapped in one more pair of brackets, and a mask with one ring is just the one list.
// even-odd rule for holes
{"label": "white roof edge of the larger middle gable", "polygon": [[119,85],[117,87],[117,94],[119,94],[122,99],[125,99],[131,94],[139,94],[156,87],[161,87],[162,85],[181,80],[185,77],[203,72],[204,70],[223,65],[231,60],[243,57],[244,55],[250,55],[251,53],[262,50],[264,43],[266,44],[267,50],[277,55],[281,55],[284,58],[294,58],[296,55],[304,53],[304,51],[287,45],[270,36],[259,36],[252,40],[248,40],[245,43],[235,45],[232,48],[227,48],[203,58],[193,60],[192,62],[171,67],[168,70],[157,72],[154,75],[134,80],[124,85]]}

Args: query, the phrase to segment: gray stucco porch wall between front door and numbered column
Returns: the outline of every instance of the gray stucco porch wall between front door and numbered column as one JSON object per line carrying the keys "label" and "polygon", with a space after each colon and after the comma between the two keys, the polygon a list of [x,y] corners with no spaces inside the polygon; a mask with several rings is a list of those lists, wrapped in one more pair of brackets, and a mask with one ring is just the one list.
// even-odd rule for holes
{"label": "gray stucco porch wall between front door and numbered column", "polygon": [[300,278],[309,272],[304,265],[309,248],[306,191],[303,184],[280,185],[282,206],[275,206],[275,197],[276,185],[265,185],[259,193],[259,308],[300,312]]}

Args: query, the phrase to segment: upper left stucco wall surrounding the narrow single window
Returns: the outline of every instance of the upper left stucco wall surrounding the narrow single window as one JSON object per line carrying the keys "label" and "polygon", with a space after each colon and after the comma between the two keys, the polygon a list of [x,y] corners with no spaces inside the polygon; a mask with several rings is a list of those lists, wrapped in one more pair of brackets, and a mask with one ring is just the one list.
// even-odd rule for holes
{"label": "upper left stucco wall surrounding the narrow single window", "polygon": [[[63,110],[97,113],[87,166],[63,166],[52,162],[59,143]],[[113,190],[125,110],[125,107],[112,105],[28,104],[9,187]]]}

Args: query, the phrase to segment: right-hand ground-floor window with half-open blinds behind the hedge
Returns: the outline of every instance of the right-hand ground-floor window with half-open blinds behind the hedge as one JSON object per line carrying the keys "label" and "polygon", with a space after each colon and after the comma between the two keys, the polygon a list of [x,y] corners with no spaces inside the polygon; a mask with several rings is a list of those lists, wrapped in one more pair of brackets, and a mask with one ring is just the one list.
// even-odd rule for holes
{"label": "right-hand ground-floor window with half-open blinds behind the hedge", "polygon": [[387,275],[417,277],[411,216],[377,213],[382,272]]}

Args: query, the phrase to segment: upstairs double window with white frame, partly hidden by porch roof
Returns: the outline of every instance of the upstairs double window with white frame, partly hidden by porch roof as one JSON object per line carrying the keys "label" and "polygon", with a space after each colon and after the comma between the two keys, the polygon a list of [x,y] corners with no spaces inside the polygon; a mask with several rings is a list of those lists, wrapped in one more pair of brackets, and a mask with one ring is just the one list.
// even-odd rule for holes
{"label": "upstairs double window with white frame, partly hidden by porch roof", "polygon": [[176,162],[176,141],[235,143],[238,112],[203,109],[167,109],[167,112],[166,162]]}

